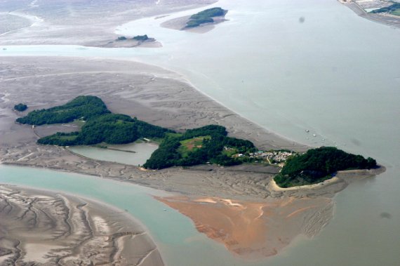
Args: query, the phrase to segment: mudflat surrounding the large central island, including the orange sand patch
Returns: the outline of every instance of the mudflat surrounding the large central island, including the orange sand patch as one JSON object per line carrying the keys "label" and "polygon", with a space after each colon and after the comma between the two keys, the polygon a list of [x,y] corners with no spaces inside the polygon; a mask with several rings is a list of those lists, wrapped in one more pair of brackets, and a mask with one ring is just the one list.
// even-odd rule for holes
{"label": "mudflat surrounding the large central island, including the orange sand patch", "polygon": [[[160,200],[192,218],[200,232],[245,257],[274,255],[299,234],[317,234],[333,216],[331,198],[352,180],[340,174],[337,182],[322,187],[279,191],[270,183],[279,171],[276,166],[141,171],[135,166],[79,157],[62,147],[36,145],[40,136],[76,128],[32,129],[15,124],[26,112],[14,112],[13,105],[24,102],[29,112],[62,105],[76,95],[97,95],[112,112],[177,131],[220,124],[227,127],[229,135],[251,140],[260,149],[307,149],[240,117],[196,91],[178,74],[158,67],[87,58],[7,57],[1,58],[0,70],[2,163],[85,173],[177,192],[185,198]],[[378,171],[361,173],[371,176]],[[204,211],[209,214],[201,215]],[[242,227],[248,235],[241,233]]]}

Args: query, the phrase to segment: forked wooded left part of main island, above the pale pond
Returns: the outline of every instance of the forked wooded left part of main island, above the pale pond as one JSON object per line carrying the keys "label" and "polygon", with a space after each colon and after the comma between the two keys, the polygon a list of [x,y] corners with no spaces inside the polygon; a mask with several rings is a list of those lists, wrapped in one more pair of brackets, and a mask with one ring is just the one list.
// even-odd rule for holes
{"label": "forked wooded left part of main island, above the pale pond", "polygon": [[126,144],[139,138],[164,138],[172,132],[125,114],[112,114],[102,100],[95,96],[79,96],[65,105],[29,112],[17,119],[22,124],[43,125],[74,121],[81,124],[81,131],[56,133],[40,138],[44,145],[72,146],[98,143]]}

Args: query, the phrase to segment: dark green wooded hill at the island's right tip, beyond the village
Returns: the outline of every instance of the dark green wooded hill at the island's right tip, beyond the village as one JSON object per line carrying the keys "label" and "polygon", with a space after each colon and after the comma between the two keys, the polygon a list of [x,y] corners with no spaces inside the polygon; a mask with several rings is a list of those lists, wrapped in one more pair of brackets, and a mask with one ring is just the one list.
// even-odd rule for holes
{"label": "dark green wooded hill at the island's right tip, beyond the village", "polygon": [[371,157],[365,159],[335,147],[320,147],[289,158],[274,180],[280,187],[309,185],[331,178],[336,171],[376,166],[375,159]]}

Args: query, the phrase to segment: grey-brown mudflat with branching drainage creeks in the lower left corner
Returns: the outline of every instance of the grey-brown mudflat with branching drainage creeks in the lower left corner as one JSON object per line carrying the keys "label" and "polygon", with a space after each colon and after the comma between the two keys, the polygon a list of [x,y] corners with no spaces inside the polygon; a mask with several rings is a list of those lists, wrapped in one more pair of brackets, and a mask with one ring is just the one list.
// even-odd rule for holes
{"label": "grey-brown mudflat with branching drainage creeks in the lower left corner", "polygon": [[1,265],[164,265],[124,211],[71,195],[0,185]]}

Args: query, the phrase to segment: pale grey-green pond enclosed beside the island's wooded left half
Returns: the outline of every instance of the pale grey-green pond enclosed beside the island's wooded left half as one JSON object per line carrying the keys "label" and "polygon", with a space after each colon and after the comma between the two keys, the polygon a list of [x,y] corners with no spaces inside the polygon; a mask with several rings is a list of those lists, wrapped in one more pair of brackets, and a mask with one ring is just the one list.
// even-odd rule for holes
{"label": "pale grey-green pond enclosed beside the island's wooded left half", "polygon": [[[128,145],[109,146],[112,149],[102,149],[91,146],[69,147],[72,152],[81,154],[84,157],[98,159],[101,161],[114,161],[121,164],[131,164],[138,166],[145,164],[152,153],[158,149],[158,145],[154,143],[140,142]],[[119,149],[119,150],[115,150]],[[129,151],[125,152],[123,150]]]}

